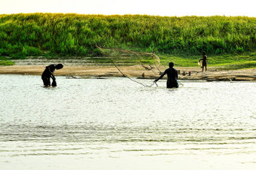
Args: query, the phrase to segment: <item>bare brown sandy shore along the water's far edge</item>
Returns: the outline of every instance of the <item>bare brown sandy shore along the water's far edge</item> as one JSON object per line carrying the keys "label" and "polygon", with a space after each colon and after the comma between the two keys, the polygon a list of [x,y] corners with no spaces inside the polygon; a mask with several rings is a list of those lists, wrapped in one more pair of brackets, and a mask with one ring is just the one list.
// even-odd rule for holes
{"label": "bare brown sandy shore along the water's far edge", "polygon": [[[55,75],[62,75],[67,77],[123,77],[126,74],[129,77],[156,78],[159,75],[152,71],[146,71],[140,65],[136,66],[121,66],[120,70],[123,74],[111,65],[97,65],[81,59],[20,59],[14,60],[15,65],[0,66],[0,74],[31,74],[40,75],[45,66],[52,63],[61,62],[64,68],[55,71]],[[216,68],[209,67],[206,72],[202,72],[200,67],[175,67],[179,71],[178,79],[180,80],[208,80],[208,81],[256,81],[256,68],[221,71]],[[160,68],[164,71],[165,67]],[[189,75],[190,72],[190,75]]]}

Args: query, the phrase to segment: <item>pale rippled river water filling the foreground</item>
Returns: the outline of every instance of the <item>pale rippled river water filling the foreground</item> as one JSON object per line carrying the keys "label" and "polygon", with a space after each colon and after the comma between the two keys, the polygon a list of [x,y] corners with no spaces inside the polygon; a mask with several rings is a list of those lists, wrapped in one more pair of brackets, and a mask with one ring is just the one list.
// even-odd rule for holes
{"label": "pale rippled river water filling the foreground", "polygon": [[1,169],[256,167],[256,83],[56,81],[0,75]]}

